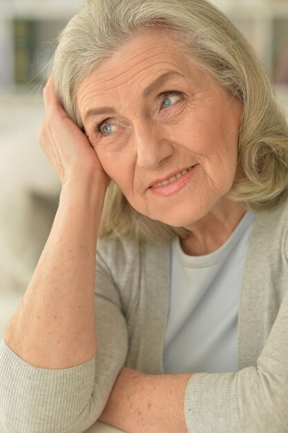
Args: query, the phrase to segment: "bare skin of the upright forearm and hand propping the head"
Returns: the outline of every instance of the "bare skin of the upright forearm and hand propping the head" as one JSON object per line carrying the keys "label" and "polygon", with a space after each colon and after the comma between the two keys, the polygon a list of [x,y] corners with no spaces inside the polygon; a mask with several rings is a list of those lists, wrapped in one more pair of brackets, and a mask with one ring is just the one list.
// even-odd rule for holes
{"label": "bare skin of the upright forearm and hand propping the head", "polygon": [[109,178],[95,149],[61,107],[52,76],[39,145],[62,190],[48,241],[3,338],[35,367],[65,369],[96,355],[95,255]]}

